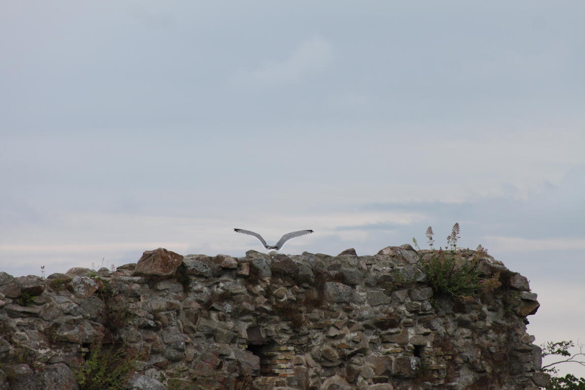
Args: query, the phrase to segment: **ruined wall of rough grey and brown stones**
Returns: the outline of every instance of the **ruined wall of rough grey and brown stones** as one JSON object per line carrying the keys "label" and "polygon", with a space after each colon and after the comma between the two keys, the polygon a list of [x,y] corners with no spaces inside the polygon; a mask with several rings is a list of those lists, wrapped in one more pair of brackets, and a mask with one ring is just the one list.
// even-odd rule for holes
{"label": "ruined wall of rough grey and brown stones", "polygon": [[458,251],[500,287],[433,291],[410,246],[375,256],[147,251],[116,271],[0,272],[0,390],[79,389],[101,345],[136,357],[132,389],[537,389],[528,281]]}

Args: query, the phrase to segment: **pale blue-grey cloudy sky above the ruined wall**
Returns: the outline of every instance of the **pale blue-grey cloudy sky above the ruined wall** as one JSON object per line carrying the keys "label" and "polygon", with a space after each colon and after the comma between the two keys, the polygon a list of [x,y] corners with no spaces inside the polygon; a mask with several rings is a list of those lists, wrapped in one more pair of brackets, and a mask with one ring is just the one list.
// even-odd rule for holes
{"label": "pale blue-grey cloudy sky above the ruined wall", "polygon": [[375,254],[458,222],[531,281],[537,344],[585,341],[584,12],[2,0],[0,271],[262,249],[235,227]]}

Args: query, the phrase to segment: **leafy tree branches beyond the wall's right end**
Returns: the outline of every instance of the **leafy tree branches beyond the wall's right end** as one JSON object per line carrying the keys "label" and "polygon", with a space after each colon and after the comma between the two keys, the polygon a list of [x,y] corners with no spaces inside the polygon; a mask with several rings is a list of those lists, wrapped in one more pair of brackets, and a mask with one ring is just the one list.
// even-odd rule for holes
{"label": "leafy tree branches beyond the wall's right end", "polygon": [[564,377],[559,377],[559,370],[553,367],[560,363],[578,363],[585,367],[585,361],[579,360],[585,357],[583,353],[583,344],[579,344],[579,353],[572,354],[569,348],[574,347],[572,340],[569,341],[548,341],[542,345],[542,357],[545,356],[563,356],[564,360],[556,361],[542,367],[542,371],[549,372],[552,377],[550,384],[546,386],[546,390],[585,390],[585,378],[577,378],[572,374],[566,374]]}

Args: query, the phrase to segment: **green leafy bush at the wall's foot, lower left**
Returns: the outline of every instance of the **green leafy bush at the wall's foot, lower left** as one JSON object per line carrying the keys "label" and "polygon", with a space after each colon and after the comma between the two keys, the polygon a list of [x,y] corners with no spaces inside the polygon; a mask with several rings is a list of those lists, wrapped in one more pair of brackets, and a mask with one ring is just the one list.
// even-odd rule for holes
{"label": "green leafy bush at the wall's foot, lower left", "polygon": [[137,357],[130,357],[124,347],[104,348],[95,344],[90,356],[75,372],[82,390],[123,390],[135,370]]}

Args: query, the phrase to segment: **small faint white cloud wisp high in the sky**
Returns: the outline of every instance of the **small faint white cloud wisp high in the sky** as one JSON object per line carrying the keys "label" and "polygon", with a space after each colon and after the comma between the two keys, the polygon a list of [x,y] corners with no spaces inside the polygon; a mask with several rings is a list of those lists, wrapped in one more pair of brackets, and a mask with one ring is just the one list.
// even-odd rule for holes
{"label": "small faint white cloud wisp high in the sky", "polygon": [[333,60],[331,45],[314,35],[295,47],[283,61],[271,61],[259,68],[240,74],[238,84],[268,87],[294,82],[305,75],[322,70]]}

